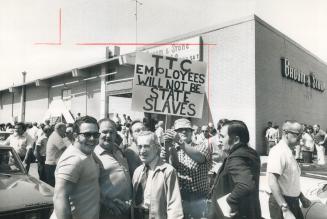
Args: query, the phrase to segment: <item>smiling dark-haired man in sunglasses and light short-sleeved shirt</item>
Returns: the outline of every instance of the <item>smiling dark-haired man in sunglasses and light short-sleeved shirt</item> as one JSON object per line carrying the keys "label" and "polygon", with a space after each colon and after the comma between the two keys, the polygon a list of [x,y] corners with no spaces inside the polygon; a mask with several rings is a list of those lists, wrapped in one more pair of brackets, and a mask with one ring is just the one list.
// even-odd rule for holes
{"label": "smiling dark-haired man in sunglasses and light short-sleeved shirt", "polygon": [[98,219],[99,167],[93,150],[99,140],[97,120],[84,116],[74,123],[75,141],[61,155],[56,172],[51,219]]}

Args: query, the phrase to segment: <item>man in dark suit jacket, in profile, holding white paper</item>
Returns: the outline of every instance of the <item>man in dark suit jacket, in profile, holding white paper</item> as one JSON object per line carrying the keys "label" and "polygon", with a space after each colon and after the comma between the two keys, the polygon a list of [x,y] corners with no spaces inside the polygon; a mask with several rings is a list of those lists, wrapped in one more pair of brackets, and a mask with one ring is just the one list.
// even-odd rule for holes
{"label": "man in dark suit jacket, in profile, holding white paper", "polygon": [[260,158],[248,146],[249,131],[242,121],[231,120],[221,129],[219,144],[228,156],[219,169],[211,190],[211,218],[224,218],[217,199],[227,196],[232,218],[260,219]]}

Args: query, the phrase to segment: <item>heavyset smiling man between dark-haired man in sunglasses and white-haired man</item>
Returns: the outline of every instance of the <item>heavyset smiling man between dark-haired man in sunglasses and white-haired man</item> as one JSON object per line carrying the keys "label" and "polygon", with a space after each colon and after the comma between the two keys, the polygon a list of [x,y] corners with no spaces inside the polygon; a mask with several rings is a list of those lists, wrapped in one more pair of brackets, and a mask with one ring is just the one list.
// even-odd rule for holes
{"label": "heavyset smiling man between dark-haired man in sunglasses and white-haired man", "polygon": [[126,158],[115,143],[116,124],[109,119],[99,121],[99,145],[94,153],[100,163],[102,219],[130,218],[132,179]]}

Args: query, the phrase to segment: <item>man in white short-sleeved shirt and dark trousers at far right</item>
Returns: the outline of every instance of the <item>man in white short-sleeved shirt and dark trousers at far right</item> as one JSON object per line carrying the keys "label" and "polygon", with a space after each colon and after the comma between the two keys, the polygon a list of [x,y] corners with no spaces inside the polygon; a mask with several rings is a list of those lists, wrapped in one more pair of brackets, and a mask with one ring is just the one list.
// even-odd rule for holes
{"label": "man in white short-sleeved shirt and dark trousers at far right", "polygon": [[282,139],[269,152],[267,176],[272,192],[269,198],[272,219],[301,219],[303,214],[299,200],[304,208],[311,204],[301,193],[301,169],[292,154],[301,137],[301,124],[296,121],[285,121]]}

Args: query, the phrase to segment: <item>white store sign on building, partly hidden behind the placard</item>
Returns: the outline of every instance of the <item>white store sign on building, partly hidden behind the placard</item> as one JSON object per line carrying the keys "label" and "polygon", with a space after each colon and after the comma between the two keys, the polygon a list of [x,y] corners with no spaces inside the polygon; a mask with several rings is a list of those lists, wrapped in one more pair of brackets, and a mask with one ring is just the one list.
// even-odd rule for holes
{"label": "white store sign on building, partly hidden behind the placard", "polygon": [[201,61],[200,45],[201,38],[193,37],[182,41],[167,43],[167,45],[146,49],[144,52],[161,56]]}

